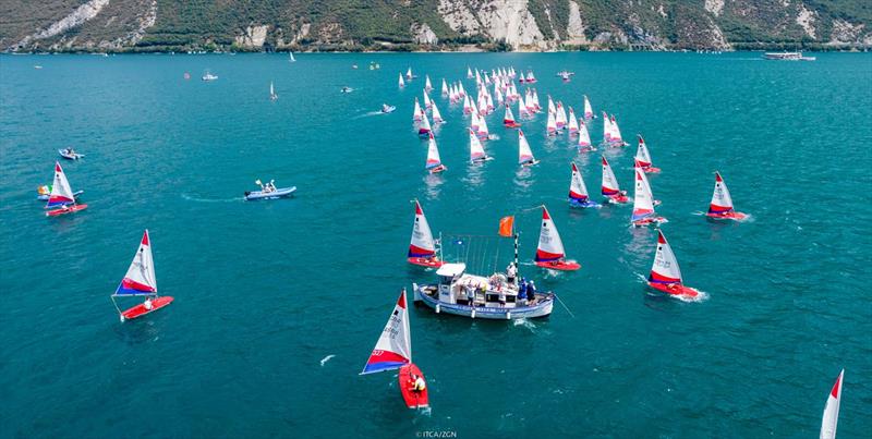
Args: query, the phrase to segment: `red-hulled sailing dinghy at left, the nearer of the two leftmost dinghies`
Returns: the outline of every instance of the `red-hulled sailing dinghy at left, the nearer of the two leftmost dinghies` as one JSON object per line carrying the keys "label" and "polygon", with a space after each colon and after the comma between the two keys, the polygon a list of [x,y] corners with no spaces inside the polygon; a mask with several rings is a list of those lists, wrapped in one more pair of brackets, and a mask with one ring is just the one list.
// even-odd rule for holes
{"label": "red-hulled sailing dinghy at left, the nearer of the two leftmost dinghies", "polygon": [[[118,307],[116,297],[132,296],[145,296],[145,302],[122,312],[121,308]],[[172,297],[158,296],[157,294],[155,261],[152,258],[152,242],[147,229],[145,233],[143,233],[143,239],[140,241],[140,248],[136,249],[133,261],[130,263],[128,273],[121,279],[121,284],[118,285],[111,298],[112,303],[116,305],[116,309],[118,309],[121,321],[142,317],[172,303]]]}

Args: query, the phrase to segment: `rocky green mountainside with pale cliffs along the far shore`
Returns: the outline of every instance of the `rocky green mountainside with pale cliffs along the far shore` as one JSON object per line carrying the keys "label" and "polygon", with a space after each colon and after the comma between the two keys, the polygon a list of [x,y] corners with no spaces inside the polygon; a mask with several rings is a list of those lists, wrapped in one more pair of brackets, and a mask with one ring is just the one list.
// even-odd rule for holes
{"label": "rocky green mountainside with pale cliffs along the far shore", "polygon": [[869,48],[868,1],[7,0],[0,4],[0,48]]}

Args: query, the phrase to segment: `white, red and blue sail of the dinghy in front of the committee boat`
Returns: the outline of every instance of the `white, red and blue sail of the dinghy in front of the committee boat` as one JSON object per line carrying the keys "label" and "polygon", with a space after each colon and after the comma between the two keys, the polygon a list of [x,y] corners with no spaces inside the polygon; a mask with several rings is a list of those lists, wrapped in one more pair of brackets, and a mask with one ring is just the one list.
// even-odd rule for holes
{"label": "white, red and blue sail of the dinghy in front of the committee boat", "polygon": [[407,305],[403,290],[361,375],[393,370],[412,363],[412,334],[409,331]]}

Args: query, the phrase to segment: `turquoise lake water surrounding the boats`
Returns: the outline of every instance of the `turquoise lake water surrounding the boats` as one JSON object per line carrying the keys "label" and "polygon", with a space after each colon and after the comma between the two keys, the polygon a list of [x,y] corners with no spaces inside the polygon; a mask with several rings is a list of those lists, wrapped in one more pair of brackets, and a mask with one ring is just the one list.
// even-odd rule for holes
{"label": "turquoise lake water surrounding the boats", "polygon": [[[656,232],[629,229],[629,206],[567,205],[570,160],[596,192],[598,156],[546,139],[543,114],[523,122],[537,167],[518,171],[497,111],[495,160],[470,168],[468,118],[438,97],[443,77],[474,89],[468,65],[532,68],[543,103],[586,94],[643,134],[663,230],[707,298],[646,293]],[[407,66],[421,78],[399,89]],[[448,120],[436,178],[411,121],[424,74]],[[843,367],[839,436],[872,430],[870,54],[3,56],[0,98],[2,437],[808,438]],[[383,102],[398,110],[372,114]],[[47,219],[35,190],[66,145],[87,156],[62,164],[89,207]],[[634,149],[606,151],[627,190]],[[715,170],[752,220],[694,215]],[[298,196],[243,202],[255,179]],[[434,279],[405,263],[413,198],[435,232],[517,215],[526,261],[545,204],[582,264],[521,270],[574,317],[413,309],[428,414],[393,373],[358,375],[400,289]],[[109,295],[145,228],[175,302],[120,324]]]}

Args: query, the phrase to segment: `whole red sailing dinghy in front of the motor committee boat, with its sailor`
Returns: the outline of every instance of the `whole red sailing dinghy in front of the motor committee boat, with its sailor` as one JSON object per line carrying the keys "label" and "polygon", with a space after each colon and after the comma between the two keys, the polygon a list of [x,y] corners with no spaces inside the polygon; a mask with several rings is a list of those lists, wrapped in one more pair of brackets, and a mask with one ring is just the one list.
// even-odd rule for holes
{"label": "whole red sailing dinghy in front of the motor committee boat, with its sailor", "polygon": [[412,363],[412,333],[409,330],[407,305],[403,289],[361,375],[400,369],[398,380],[405,406],[426,408],[429,406],[429,398],[424,374]]}

